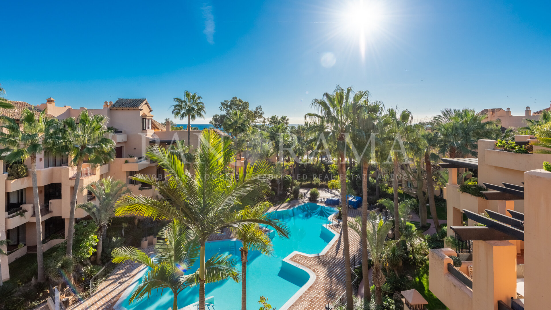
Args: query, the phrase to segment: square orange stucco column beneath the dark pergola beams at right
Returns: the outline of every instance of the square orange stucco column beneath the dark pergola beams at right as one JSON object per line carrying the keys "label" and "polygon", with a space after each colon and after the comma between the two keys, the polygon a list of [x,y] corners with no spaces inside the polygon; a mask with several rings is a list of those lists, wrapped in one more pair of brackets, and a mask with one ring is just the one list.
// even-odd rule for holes
{"label": "square orange stucco column beneath the dark pergola beams at right", "polygon": [[498,310],[498,301],[516,297],[516,245],[473,241],[474,310]]}

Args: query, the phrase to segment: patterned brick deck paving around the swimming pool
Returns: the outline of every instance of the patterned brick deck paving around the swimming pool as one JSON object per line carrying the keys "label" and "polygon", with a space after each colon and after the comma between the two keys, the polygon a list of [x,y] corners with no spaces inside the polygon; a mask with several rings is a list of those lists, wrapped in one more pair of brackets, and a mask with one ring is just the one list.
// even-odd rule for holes
{"label": "patterned brick deck paving around the swimming pool", "polygon": [[[285,204],[274,206],[272,210],[290,209],[305,201],[294,200]],[[349,219],[361,215],[361,209],[348,209]],[[342,226],[331,225],[331,228],[339,234],[338,239],[331,245],[327,253],[321,256],[309,257],[295,254],[291,261],[309,268],[316,274],[314,283],[289,307],[292,310],[320,310],[325,308],[327,302],[340,297],[344,292],[344,255],[342,247]],[[229,239],[233,234],[225,232],[217,234],[213,240]],[[352,230],[348,230],[350,256],[361,255],[360,238]],[[153,246],[145,249],[148,254],[153,253]],[[128,285],[138,271],[141,264],[126,261],[117,266],[111,275],[98,287],[93,295],[84,301],[71,306],[71,310],[110,310],[122,296]]]}

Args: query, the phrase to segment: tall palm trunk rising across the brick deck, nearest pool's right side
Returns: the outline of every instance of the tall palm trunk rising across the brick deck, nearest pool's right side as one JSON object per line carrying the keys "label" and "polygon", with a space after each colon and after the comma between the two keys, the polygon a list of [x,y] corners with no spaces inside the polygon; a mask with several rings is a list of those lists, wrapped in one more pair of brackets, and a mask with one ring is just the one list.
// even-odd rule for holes
{"label": "tall palm trunk rising across the brick deck, nearest pool's right side", "polygon": [[346,164],[344,162],[344,152],[340,152],[339,157],[341,163],[339,167],[341,169],[341,204],[343,213],[343,254],[344,254],[344,272],[346,275],[346,308],[347,310],[354,309],[354,301],[352,300],[352,270],[350,269],[350,249],[348,247],[348,199],[346,195]]}

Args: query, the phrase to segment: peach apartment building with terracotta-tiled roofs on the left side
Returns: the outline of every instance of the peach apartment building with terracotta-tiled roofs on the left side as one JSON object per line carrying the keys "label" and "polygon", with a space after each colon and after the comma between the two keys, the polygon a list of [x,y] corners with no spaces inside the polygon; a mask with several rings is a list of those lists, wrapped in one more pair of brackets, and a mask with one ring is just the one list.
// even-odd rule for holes
{"label": "peach apartment building with terracotta-tiled roofs on the left side", "polygon": [[[14,119],[20,117],[25,108],[34,108],[36,113],[45,110],[50,117],[65,119],[76,117],[83,110],[91,114],[101,114],[109,117],[108,126],[115,127],[112,140],[116,143],[116,158],[110,163],[91,167],[84,164],[80,181],[80,188],[98,181],[100,178],[114,177],[125,180],[133,194],[152,196],[154,189],[136,184],[128,179],[137,173],[156,175],[164,178],[164,170],[157,164],[150,163],[145,158],[145,149],[151,143],[170,145],[176,140],[187,141],[187,131],[171,131],[170,124],[161,124],[153,120],[152,107],[147,99],[117,99],[115,103],[105,101],[101,109],[79,108],[71,106],[56,106],[53,98],[46,99],[46,103],[30,105],[24,101],[10,101],[14,109],[3,109],[1,113]],[[219,135],[225,135],[217,130]],[[191,145],[197,146],[201,131],[191,131]],[[9,279],[8,263],[25,255],[36,252],[37,242],[42,242],[44,250],[63,242],[67,237],[69,222],[69,204],[74,189],[76,167],[70,167],[71,158],[67,156],[53,156],[44,152],[37,157],[37,180],[42,216],[42,240],[36,240],[36,217],[33,205],[33,191],[30,176],[8,180],[6,165],[3,165],[3,174],[0,175],[0,239],[9,239],[12,242],[5,250],[8,256],[2,259],[2,279]],[[30,162],[25,163],[30,167]],[[95,201],[95,197],[87,191],[79,190],[77,203]],[[75,217],[84,218],[88,214],[77,209]]]}

